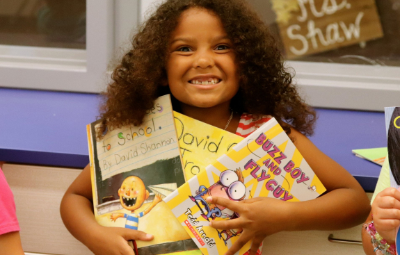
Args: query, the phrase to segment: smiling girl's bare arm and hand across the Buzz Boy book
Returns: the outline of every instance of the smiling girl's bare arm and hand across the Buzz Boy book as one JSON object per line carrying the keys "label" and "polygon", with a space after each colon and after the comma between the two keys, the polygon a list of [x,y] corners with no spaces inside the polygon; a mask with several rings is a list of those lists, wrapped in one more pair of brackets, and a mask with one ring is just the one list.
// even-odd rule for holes
{"label": "smiling girl's bare arm and hand across the Buzz Boy book", "polygon": [[227,255],[233,255],[249,240],[253,240],[250,250],[253,255],[266,236],[280,231],[346,229],[367,218],[369,199],[358,181],[305,135],[292,129],[290,136],[325,186],[326,193],[317,199],[300,202],[257,197],[237,203],[213,197],[213,203],[227,206],[240,215],[238,219],[212,222],[211,225],[216,229],[243,229]]}

